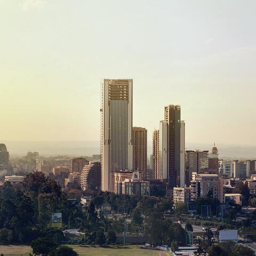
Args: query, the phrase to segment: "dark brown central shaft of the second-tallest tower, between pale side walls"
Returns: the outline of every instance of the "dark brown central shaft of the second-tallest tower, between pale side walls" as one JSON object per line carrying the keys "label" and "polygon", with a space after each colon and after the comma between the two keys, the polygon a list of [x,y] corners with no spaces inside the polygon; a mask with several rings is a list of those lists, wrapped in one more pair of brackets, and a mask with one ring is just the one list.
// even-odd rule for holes
{"label": "dark brown central shaft of the second-tallest tower, between pale side walls", "polygon": [[180,183],[180,106],[166,106],[164,121],[168,124],[168,179],[172,189]]}

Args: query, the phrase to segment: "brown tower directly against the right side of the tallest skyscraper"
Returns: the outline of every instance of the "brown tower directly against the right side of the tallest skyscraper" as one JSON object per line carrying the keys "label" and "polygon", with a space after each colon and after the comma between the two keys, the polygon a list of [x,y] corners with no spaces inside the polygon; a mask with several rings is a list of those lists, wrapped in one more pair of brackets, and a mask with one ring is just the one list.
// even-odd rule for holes
{"label": "brown tower directly against the right side of the tallest skyscraper", "polygon": [[133,170],[143,172],[147,178],[147,130],[142,127],[133,127]]}

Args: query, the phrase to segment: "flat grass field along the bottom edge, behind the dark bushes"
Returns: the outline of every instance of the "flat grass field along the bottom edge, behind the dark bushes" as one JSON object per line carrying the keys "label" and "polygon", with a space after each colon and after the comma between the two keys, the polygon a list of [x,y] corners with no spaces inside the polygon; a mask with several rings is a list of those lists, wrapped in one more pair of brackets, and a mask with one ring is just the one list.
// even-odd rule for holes
{"label": "flat grass field along the bottom edge, behind the dark bushes", "polygon": [[[100,246],[79,246],[69,245],[79,256],[158,256],[159,253],[151,250],[143,250],[135,245],[106,245]],[[0,253],[4,256],[28,256],[31,247],[26,245],[0,245]],[[161,255],[172,255],[171,253],[162,252]]]}

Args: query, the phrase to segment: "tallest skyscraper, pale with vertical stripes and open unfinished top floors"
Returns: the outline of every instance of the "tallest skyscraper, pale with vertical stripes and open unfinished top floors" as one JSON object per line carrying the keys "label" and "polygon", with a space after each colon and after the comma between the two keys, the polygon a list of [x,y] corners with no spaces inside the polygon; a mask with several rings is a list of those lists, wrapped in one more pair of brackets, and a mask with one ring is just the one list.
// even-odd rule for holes
{"label": "tallest skyscraper, pale with vertical stripes and open unfinished top floors", "polygon": [[132,79],[104,79],[101,106],[102,190],[114,191],[114,173],[132,169]]}

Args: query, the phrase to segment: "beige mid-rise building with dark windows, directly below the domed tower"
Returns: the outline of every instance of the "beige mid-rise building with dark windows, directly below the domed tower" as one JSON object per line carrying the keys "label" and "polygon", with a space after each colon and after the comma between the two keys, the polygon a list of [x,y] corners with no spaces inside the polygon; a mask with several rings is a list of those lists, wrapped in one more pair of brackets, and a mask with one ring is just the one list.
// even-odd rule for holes
{"label": "beige mid-rise building with dark windows, directly below the domed tower", "polygon": [[191,199],[210,195],[223,203],[223,179],[218,174],[193,173],[191,180]]}

